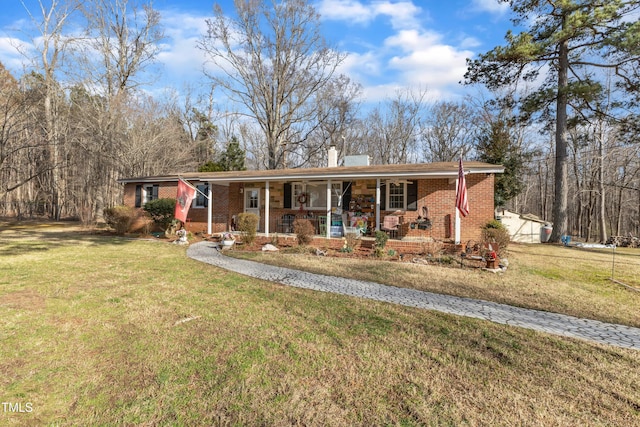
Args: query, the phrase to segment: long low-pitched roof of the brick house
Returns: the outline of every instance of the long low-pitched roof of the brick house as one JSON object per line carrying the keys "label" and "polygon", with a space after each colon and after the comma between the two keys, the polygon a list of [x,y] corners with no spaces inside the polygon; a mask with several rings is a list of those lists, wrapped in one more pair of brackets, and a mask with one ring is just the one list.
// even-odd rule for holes
{"label": "long low-pitched roof of the brick house", "polygon": [[[468,161],[464,163],[467,174],[504,173],[504,166]],[[402,165],[336,166],[324,168],[298,168],[275,170],[252,170],[231,172],[188,172],[182,174],[145,176],[119,179],[118,182],[165,182],[177,181],[178,177],[191,181],[211,182],[228,185],[232,182],[265,181],[326,181],[329,179],[403,179],[403,178],[455,178],[458,176],[458,162],[412,163]]]}

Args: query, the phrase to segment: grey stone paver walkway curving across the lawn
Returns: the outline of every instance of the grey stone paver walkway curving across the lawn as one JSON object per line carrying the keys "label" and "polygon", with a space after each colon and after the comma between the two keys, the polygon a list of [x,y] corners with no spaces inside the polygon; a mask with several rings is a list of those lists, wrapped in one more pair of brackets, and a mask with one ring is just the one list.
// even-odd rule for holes
{"label": "grey stone paver walkway curving across the lawn", "polygon": [[227,257],[221,254],[217,244],[212,242],[199,242],[191,245],[187,250],[187,255],[195,260],[226,270],[287,286],[436,310],[505,325],[534,329],[550,334],[640,350],[639,328],[512,307],[490,301],[440,295],[415,289],[398,288],[379,283],[325,276],[260,264],[254,261]]}

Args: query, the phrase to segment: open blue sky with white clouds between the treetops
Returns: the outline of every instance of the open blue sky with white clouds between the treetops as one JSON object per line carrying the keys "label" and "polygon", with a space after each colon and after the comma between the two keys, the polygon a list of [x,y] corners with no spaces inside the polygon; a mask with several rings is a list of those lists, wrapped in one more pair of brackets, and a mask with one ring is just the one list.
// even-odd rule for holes
{"label": "open blue sky with white clouds between the treetops", "polygon": [[[42,0],[48,4],[51,0]],[[267,0],[269,1],[269,0]],[[23,0],[39,13],[37,0]],[[211,0],[154,0],[167,39],[158,57],[159,87],[177,90],[204,81],[204,57],[195,47],[212,15]],[[233,13],[233,1],[221,0]],[[502,44],[511,28],[508,7],[498,0],[312,0],[327,40],[349,56],[340,72],[360,83],[377,102],[402,88],[426,88],[431,99],[454,99],[471,88],[458,82],[465,59]],[[20,0],[0,0],[0,62],[14,75],[29,49],[30,20]]]}

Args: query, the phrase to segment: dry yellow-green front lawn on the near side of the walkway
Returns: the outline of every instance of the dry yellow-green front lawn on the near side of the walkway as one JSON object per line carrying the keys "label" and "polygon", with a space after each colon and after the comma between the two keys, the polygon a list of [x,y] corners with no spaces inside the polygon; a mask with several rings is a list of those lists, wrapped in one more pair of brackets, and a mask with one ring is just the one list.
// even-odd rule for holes
{"label": "dry yellow-green front lawn on the near side of the walkway", "polygon": [[[2,425],[640,423],[637,351],[248,279],[177,245],[43,242],[0,255],[0,401],[33,404]],[[19,292],[44,304],[4,304]]]}

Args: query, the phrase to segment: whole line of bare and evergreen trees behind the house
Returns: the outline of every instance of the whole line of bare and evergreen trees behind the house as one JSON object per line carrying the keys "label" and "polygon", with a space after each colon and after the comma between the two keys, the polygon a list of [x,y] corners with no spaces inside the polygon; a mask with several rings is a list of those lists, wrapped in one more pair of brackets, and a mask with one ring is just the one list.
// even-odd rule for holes
{"label": "whole line of bare and evergreen trees behind the house", "polygon": [[478,95],[407,88],[374,106],[306,0],[216,5],[197,43],[209,84],[180,96],[147,90],[164,39],[150,2],[39,4],[31,68],[0,64],[4,215],[93,223],[121,203],[118,178],[324,166],[333,145],[372,164],[502,164],[496,207],[554,222],[555,240],[640,235],[637,1],[513,2],[529,27],[469,60]]}

